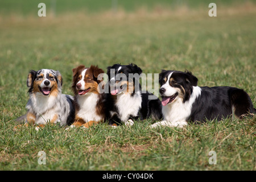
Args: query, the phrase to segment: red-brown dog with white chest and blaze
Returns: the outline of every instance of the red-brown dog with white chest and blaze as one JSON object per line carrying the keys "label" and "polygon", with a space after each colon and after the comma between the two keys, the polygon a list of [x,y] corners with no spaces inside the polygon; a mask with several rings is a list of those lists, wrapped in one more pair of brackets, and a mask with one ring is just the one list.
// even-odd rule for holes
{"label": "red-brown dog with white chest and blaze", "polygon": [[99,76],[101,73],[104,71],[94,65],[91,65],[90,68],[80,65],[73,69],[72,90],[75,94],[76,114],[75,122],[71,127],[88,128],[91,125],[106,121],[108,115],[106,94],[100,93],[100,88],[98,88],[103,81],[103,78]]}

